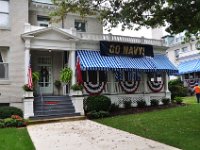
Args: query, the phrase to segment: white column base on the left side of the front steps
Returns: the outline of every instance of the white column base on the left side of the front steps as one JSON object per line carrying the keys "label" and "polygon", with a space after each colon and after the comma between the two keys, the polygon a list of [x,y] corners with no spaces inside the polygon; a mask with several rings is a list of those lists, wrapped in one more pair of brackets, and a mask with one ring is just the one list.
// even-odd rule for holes
{"label": "white column base on the left side of the front steps", "polygon": [[34,116],[33,111],[33,98],[24,99],[24,118],[28,119],[29,117]]}

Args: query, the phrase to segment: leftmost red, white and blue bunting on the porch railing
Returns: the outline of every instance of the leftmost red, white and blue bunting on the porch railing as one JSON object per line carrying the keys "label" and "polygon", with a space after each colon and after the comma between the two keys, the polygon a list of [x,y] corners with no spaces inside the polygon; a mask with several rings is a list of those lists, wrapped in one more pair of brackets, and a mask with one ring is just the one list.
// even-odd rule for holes
{"label": "leftmost red, white and blue bunting on the porch railing", "polygon": [[98,83],[92,83],[92,82],[84,82],[83,86],[85,91],[90,95],[98,95],[102,93],[106,85],[106,82],[98,82]]}

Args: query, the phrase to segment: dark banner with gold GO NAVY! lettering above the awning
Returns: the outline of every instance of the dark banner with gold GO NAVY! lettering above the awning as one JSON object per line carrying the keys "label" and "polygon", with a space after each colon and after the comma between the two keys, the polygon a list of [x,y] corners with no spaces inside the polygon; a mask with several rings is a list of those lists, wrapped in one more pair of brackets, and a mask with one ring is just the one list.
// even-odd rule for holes
{"label": "dark banner with gold GO NAVY! lettering above the awning", "polygon": [[146,44],[130,44],[120,42],[100,41],[101,55],[118,55],[130,57],[151,56],[153,54],[153,46]]}

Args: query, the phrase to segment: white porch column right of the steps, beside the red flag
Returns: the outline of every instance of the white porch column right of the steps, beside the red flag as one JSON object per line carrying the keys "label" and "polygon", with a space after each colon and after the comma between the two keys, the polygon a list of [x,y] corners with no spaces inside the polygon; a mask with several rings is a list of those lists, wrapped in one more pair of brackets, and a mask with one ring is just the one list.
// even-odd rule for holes
{"label": "white porch column right of the steps, beside the red flag", "polygon": [[69,53],[69,60],[70,64],[69,67],[72,69],[72,81],[71,84],[76,83],[76,57],[75,57],[75,50],[70,51]]}

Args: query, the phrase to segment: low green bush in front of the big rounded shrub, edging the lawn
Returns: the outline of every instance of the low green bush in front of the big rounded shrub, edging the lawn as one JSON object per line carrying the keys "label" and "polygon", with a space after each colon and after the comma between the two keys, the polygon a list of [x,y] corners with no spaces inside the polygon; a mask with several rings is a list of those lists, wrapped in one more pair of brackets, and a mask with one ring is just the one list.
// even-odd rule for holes
{"label": "low green bush in front of the big rounded shrub, edging the lawn", "polygon": [[98,119],[98,118],[105,118],[105,117],[109,117],[109,112],[108,111],[90,111],[87,113],[87,117],[89,119]]}

